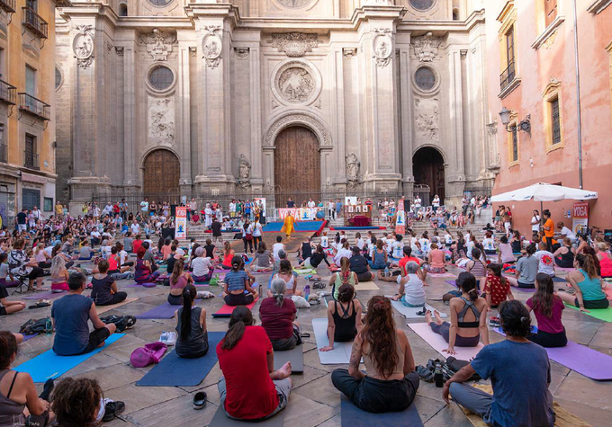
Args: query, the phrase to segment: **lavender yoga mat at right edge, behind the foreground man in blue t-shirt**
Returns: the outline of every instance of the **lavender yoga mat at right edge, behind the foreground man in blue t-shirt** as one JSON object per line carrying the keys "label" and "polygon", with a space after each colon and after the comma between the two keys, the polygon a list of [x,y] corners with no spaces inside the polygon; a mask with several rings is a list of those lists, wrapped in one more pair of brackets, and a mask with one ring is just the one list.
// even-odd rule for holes
{"label": "lavender yoga mat at right edge, behind the foreground man in blue t-shirt", "polygon": [[[493,331],[506,336],[501,328],[493,328]],[[612,357],[608,354],[600,353],[573,341],[568,341],[565,347],[545,347],[545,351],[551,360],[587,378],[598,381],[612,379]]]}

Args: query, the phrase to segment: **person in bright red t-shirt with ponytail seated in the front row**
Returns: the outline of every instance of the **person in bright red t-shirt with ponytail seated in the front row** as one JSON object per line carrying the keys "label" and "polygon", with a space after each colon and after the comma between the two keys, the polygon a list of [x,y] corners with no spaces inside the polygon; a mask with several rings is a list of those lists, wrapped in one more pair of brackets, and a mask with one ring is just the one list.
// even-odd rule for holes
{"label": "person in bright red t-shirt with ponytail seated in the front row", "polygon": [[274,370],[272,343],[253,314],[238,306],[229,317],[225,338],[217,345],[223,373],[217,387],[223,412],[236,420],[257,421],[282,411],[293,387],[291,362]]}

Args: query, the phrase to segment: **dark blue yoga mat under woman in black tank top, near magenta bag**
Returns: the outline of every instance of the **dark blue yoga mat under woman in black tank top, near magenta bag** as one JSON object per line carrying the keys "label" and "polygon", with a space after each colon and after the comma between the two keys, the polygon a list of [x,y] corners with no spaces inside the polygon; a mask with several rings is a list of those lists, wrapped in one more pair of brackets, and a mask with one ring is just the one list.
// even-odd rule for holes
{"label": "dark blue yoga mat under woman in black tank top, near magenta bag", "polygon": [[194,387],[199,385],[217,363],[217,344],[224,332],[208,333],[208,352],[198,359],[183,359],[176,351],[167,354],[140,379],[139,387]]}

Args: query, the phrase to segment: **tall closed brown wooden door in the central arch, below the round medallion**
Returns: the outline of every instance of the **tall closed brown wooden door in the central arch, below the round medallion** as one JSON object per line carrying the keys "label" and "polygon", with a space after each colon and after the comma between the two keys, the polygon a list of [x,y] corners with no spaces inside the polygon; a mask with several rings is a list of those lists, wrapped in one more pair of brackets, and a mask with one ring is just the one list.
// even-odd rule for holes
{"label": "tall closed brown wooden door in the central arch, below the round medallion", "polygon": [[300,206],[302,200],[320,200],[321,162],[319,139],[300,126],[284,129],[275,141],[276,206],[286,206],[290,197]]}

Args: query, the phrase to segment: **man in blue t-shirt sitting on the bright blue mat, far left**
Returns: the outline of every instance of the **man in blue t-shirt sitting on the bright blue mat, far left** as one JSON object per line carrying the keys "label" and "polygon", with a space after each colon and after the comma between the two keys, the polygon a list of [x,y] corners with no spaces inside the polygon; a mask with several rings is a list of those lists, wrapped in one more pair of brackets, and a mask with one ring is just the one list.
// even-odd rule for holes
{"label": "man in blue t-shirt sitting on the bright blue mat, far left", "polygon": [[[56,300],[51,307],[51,318],[55,326],[53,351],[58,356],[74,356],[92,352],[102,347],[106,338],[118,330],[113,324],[104,325],[95,310],[94,300],[81,295],[85,290],[85,282],[83,273],[71,273],[68,278],[70,291],[66,296]],[[89,320],[94,325],[94,332],[91,334],[89,333]],[[125,325],[120,325],[119,332],[122,332]]]}

